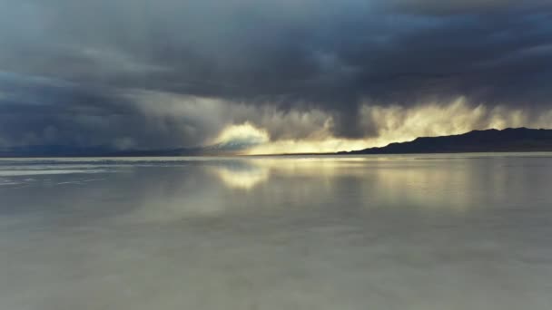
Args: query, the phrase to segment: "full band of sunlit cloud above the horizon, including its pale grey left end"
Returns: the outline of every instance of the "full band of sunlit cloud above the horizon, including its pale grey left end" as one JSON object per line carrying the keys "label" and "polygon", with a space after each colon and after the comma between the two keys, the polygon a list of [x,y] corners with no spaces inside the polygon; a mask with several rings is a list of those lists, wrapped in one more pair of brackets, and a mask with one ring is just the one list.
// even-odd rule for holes
{"label": "full band of sunlit cloud above the horizon, including its pale grey left end", "polygon": [[[361,138],[336,134],[336,115],[303,106],[282,109],[245,102],[138,92],[131,97],[146,126],[193,145],[218,145],[236,154],[335,152],[392,142],[508,127],[552,127],[552,110],[527,111],[507,104],[422,101],[410,105],[364,101],[355,113]],[[154,105],[153,102],[158,103]],[[193,142],[190,142],[193,141]]]}

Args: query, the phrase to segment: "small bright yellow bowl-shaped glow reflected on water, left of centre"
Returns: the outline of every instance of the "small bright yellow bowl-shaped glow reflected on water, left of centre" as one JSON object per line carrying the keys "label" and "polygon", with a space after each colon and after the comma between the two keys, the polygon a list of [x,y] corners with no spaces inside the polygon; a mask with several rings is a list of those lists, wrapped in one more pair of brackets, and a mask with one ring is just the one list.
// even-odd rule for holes
{"label": "small bright yellow bowl-shaped glow reflected on water, left of centre", "polygon": [[209,168],[216,173],[225,186],[232,189],[253,189],[270,177],[268,167],[254,163]]}

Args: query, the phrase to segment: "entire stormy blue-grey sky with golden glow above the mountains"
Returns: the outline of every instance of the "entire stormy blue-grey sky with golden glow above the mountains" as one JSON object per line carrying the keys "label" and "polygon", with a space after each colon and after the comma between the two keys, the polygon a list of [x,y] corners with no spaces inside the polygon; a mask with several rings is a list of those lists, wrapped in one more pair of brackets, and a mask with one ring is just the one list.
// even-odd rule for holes
{"label": "entire stormy blue-grey sky with golden glow above the mountains", "polygon": [[0,0],[0,148],[552,128],[552,0]]}

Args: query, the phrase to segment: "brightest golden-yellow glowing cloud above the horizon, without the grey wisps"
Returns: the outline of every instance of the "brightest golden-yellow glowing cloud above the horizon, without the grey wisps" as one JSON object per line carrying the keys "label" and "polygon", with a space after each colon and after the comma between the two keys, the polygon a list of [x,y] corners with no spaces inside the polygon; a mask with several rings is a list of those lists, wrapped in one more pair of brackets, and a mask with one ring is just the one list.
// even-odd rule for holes
{"label": "brightest golden-yellow glowing cloud above the horizon, without the grey wisps", "polygon": [[552,110],[540,113],[537,117],[523,110],[484,104],[472,105],[465,98],[442,104],[428,102],[413,107],[399,105],[380,106],[365,103],[359,111],[360,124],[376,134],[364,139],[337,138],[331,133],[331,117],[320,127],[316,136],[303,139],[271,140],[268,131],[255,127],[249,122],[232,125],[221,132],[216,141],[249,141],[249,146],[240,153],[248,155],[335,152],[340,150],[362,150],[381,147],[392,142],[414,140],[418,137],[431,137],[461,134],[473,130],[505,129],[508,127],[552,127]]}

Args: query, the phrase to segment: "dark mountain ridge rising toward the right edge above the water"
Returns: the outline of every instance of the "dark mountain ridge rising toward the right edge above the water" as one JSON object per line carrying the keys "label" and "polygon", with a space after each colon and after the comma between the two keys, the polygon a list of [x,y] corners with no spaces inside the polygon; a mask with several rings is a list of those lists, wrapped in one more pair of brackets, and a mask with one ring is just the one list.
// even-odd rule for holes
{"label": "dark mountain ridge rising toward the right edge above the water", "polygon": [[469,153],[552,151],[552,130],[508,128],[503,131],[469,131],[442,137],[417,138],[382,148],[342,151],[338,154]]}

